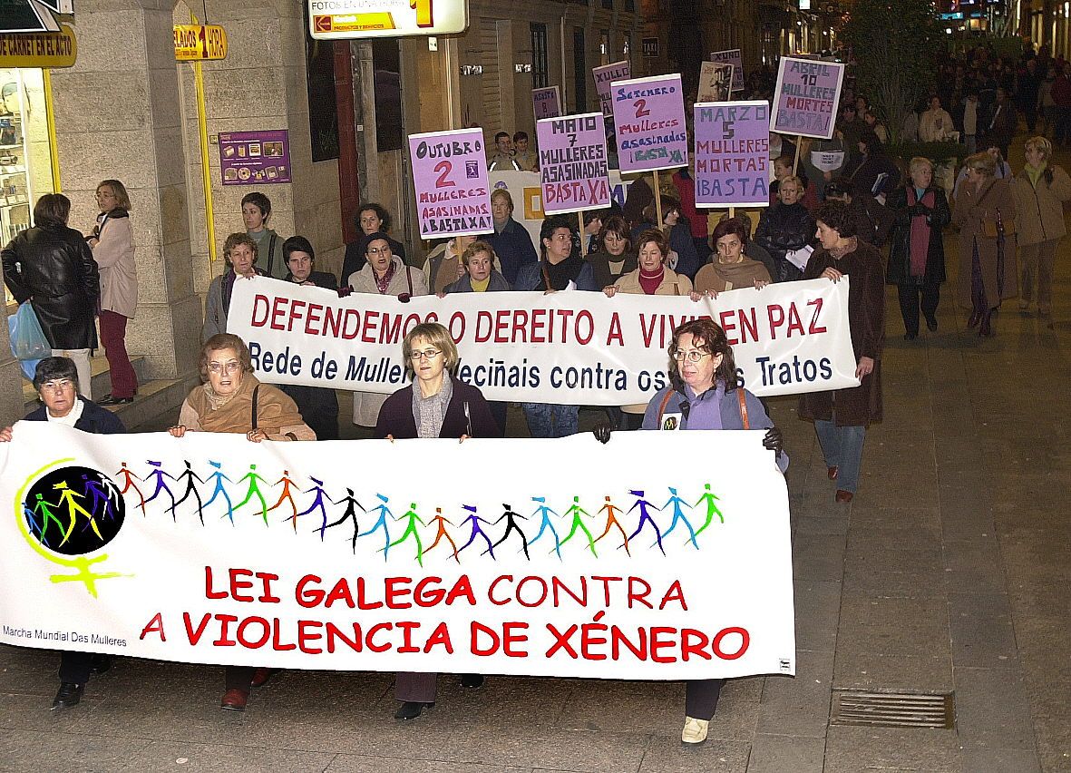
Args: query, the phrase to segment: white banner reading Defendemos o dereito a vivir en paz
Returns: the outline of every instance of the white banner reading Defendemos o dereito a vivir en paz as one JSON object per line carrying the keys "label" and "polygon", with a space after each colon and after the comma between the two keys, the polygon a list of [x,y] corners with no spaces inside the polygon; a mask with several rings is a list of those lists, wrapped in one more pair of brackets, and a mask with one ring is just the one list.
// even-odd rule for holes
{"label": "white banner reading Defendemos o dereito a vivir en paz", "polygon": [[459,293],[402,302],[256,277],[235,283],[227,330],[250,345],[266,382],[393,392],[408,383],[402,340],[421,322],[446,325],[457,375],[488,400],[628,405],[668,383],[673,330],[700,316],[728,336],[756,395],[858,386],[848,332],[848,280],[771,284],[688,296]]}

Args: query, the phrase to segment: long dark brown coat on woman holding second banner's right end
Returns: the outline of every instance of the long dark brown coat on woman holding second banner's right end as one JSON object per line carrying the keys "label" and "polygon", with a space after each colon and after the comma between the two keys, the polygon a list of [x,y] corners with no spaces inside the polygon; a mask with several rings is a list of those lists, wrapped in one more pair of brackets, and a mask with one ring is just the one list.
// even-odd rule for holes
{"label": "long dark brown coat on woman holding second banner's right end", "polygon": [[[881,255],[859,241],[855,252],[840,261],[818,248],[808,261],[803,279],[817,279],[827,268],[835,268],[851,280],[848,293],[848,329],[856,361],[874,360],[874,370],[857,387],[811,392],[800,398],[800,418],[832,419],[838,427],[865,427],[881,420],[881,350],[885,347],[885,272]],[[834,412],[835,405],[835,412]]]}

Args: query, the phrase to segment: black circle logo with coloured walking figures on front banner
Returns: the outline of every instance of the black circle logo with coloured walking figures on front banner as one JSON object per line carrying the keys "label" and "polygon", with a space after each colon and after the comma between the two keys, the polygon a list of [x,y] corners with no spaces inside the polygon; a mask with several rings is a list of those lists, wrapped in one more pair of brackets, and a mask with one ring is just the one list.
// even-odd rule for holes
{"label": "black circle logo with coloured walking figures on front banner", "polygon": [[51,470],[22,500],[30,536],[62,555],[85,555],[115,539],[126,517],[119,488],[90,467]]}

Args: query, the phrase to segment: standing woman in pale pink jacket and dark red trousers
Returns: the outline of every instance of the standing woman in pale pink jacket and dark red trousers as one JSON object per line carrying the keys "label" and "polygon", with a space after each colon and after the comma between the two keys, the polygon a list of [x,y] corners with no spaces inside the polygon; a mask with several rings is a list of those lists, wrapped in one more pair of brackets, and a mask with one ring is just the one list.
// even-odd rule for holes
{"label": "standing woman in pale pink jacket and dark red trousers", "polygon": [[104,180],[96,187],[96,205],[101,213],[86,241],[101,271],[101,343],[111,376],[111,392],[97,402],[119,405],[134,402],[137,393],[137,374],[126,355],[126,322],[137,309],[131,199],[119,180]]}

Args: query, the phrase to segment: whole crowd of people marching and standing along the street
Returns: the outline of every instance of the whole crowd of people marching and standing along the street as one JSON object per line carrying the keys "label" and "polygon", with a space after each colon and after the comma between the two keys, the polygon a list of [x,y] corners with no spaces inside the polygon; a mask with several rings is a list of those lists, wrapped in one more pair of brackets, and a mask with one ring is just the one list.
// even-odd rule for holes
{"label": "whole crowd of people marching and standing along the street", "polygon": [[[610,298],[627,293],[697,301],[771,282],[850,277],[848,325],[860,386],[803,395],[799,403],[800,417],[815,425],[835,501],[850,502],[866,427],[881,419],[886,284],[897,288],[906,340],[919,336],[920,314],[936,331],[947,226],[954,224],[960,233],[956,301],[970,310],[968,326],[979,336],[994,335],[993,314],[1004,299],[1017,296],[1024,314],[1032,303],[1042,316],[1052,313],[1053,264],[1066,234],[1062,205],[1071,199],[1071,178],[1053,164],[1053,140],[1044,133],[1026,140],[1022,169],[1012,172],[1006,159],[1020,114],[1030,135],[1041,121],[1057,144],[1068,142],[1069,66],[1043,55],[1009,62],[984,49],[942,65],[925,109],[912,114],[916,125],[904,133],[941,142],[959,132],[968,153],[952,191],[938,183],[938,173],[956,172],[946,168],[948,161],[897,162],[887,151],[889,133],[880,117],[864,95],[845,89],[832,139],[770,135],[771,206],[757,222],[740,212],[721,217],[712,229],[714,219],[696,210],[687,167],[665,177],[665,189],[658,192],[646,177],[636,179],[620,206],[586,212],[580,231],[573,227],[575,218],[548,217],[536,242],[514,218],[510,192],[495,190],[493,233],[443,241],[420,261],[391,235],[390,212],[365,203],[356,217],[360,236],[347,246],[336,277],[317,269],[307,238],[276,234],[269,226],[270,199],[250,193],[242,199],[244,231],[226,238],[226,270],[207,293],[203,384],[190,393],[170,432],[238,432],[251,442],[338,437],[334,390],[261,384],[245,343],[226,331],[235,284],[246,278],[270,276],[340,294],[402,300],[427,294],[587,291]],[[761,77],[749,83],[753,90],[765,86]],[[942,105],[953,106],[953,113]],[[495,139],[492,168],[536,168],[523,132],[512,137],[501,132]],[[975,152],[977,147],[982,150]],[[819,165],[812,151],[839,153],[841,163]],[[112,433],[123,431],[122,425],[99,405],[129,402],[137,390],[123,343],[137,304],[135,244],[122,183],[105,180],[96,193],[101,214],[88,234],[69,227],[65,196],[43,196],[34,208],[35,226],[3,249],[2,263],[9,289],[19,302],[32,303],[52,355],[39,363],[33,378],[44,407],[27,419]],[[112,390],[94,403],[89,353],[97,345],[97,316]],[[413,328],[403,354],[412,385],[392,396],[356,393],[355,423],[389,438],[506,434],[508,405],[484,400],[479,389],[451,375],[457,352],[444,328]],[[595,430],[602,442],[613,443],[614,430],[763,430],[764,445],[786,469],[782,433],[765,404],[737,383],[733,350],[718,325],[698,319],[677,328],[666,368],[669,386],[648,404],[607,412],[607,423]],[[578,405],[521,407],[531,436],[578,431]],[[11,440],[11,428],[0,431],[0,441]],[[64,652],[54,708],[76,704],[89,674],[109,664],[106,656]],[[273,673],[228,667],[222,707],[243,710],[251,688]],[[398,674],[395,716],[411,719],[434,703],[435,677]],[[474,688],[483,678],[466,674],[462,681]],[[706,738],[722,683],[689,682],[684,742]]]}

